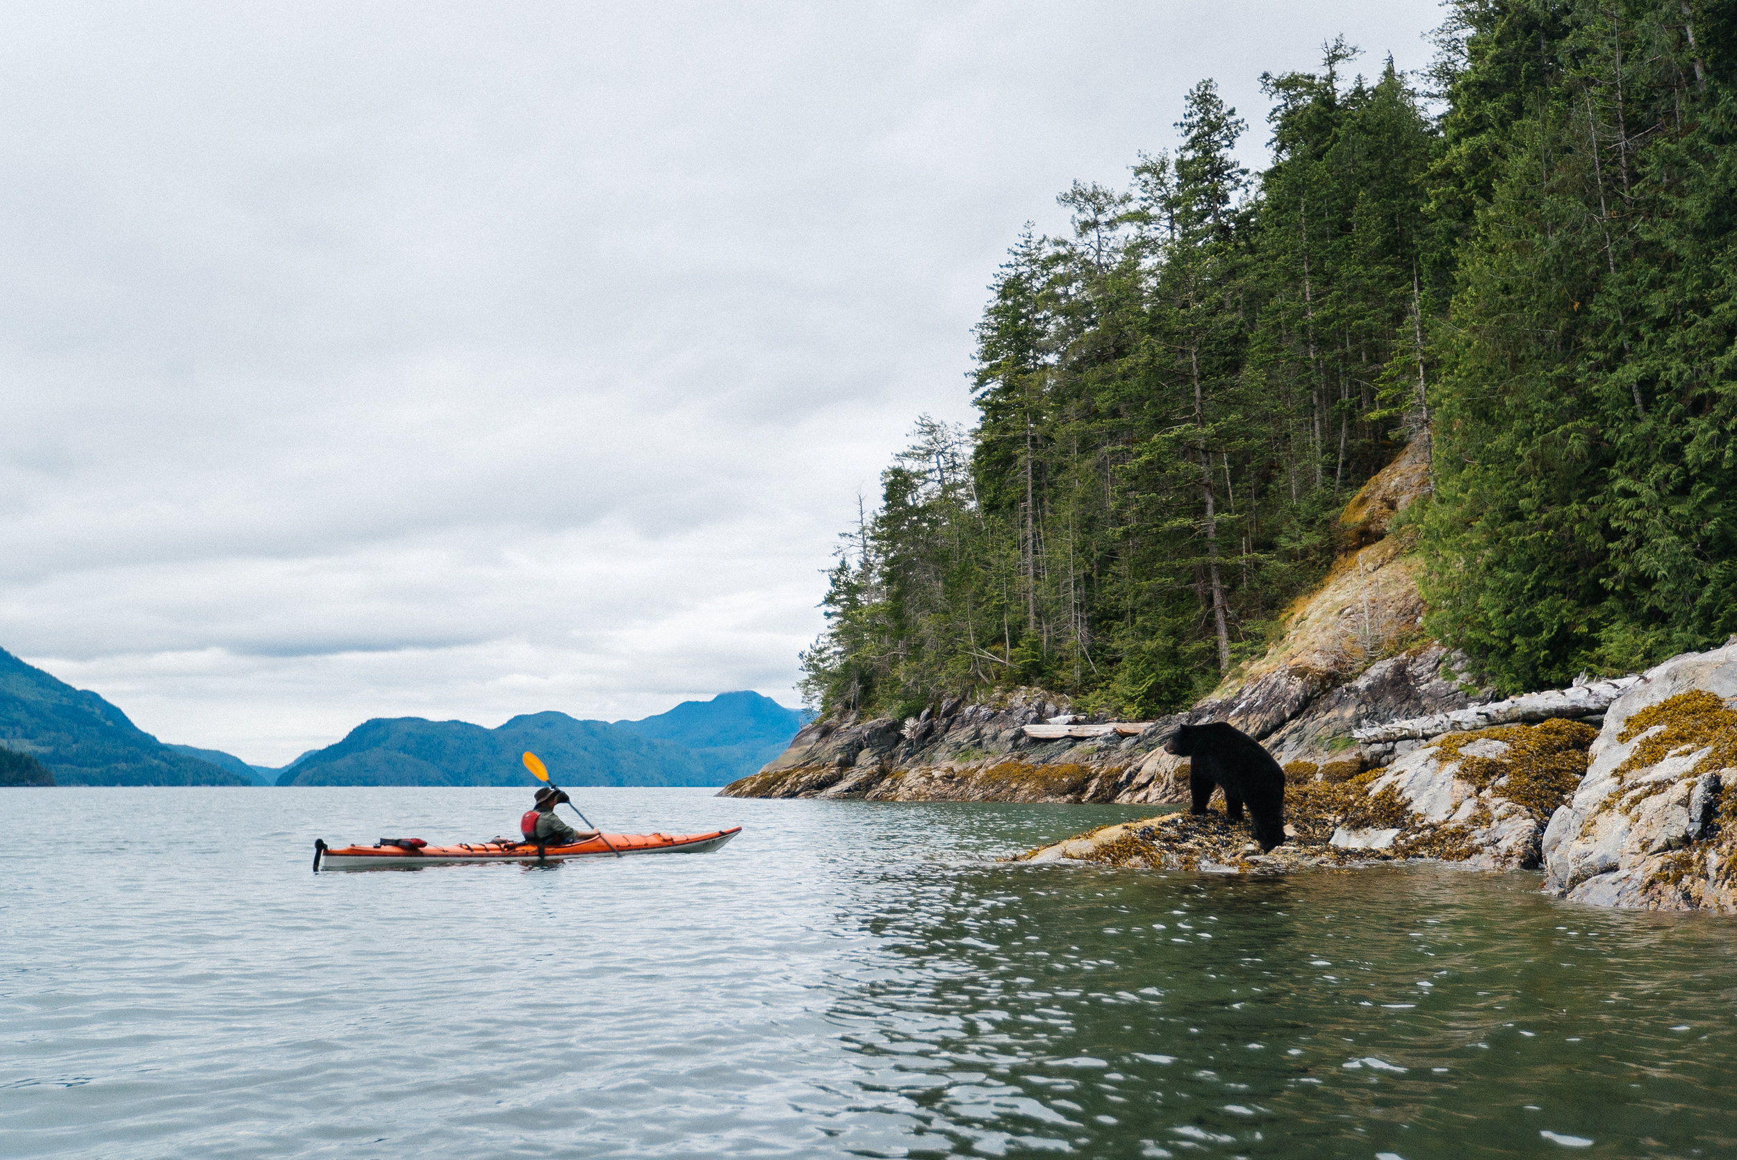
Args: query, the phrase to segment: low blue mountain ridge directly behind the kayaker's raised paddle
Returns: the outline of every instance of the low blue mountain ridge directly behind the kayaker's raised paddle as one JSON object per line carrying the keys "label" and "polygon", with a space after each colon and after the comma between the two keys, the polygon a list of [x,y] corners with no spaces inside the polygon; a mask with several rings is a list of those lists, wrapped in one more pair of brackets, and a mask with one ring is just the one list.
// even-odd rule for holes
{"label": "low blue mountain ridge directly behind the kayaker's raised paddle", "polygon": [[604,721],[559,712],[514,717],[499,729],[464,721],[377,717],[337,745],[299,759],[278,785],[518,785],[535,781],[525,750],[559,785],[723,785],[681,745],[643,738]]}

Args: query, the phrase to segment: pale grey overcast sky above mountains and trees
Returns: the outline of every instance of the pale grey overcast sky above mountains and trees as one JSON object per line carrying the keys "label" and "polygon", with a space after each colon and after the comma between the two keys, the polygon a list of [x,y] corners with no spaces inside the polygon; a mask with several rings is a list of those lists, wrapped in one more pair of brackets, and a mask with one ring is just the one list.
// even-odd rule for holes
{"label": "pale grey overcast sky above mountains and trees", "polygon": [[797,703],[1021,222],[1433,0],[50,3],[0,35],[0,648],[281,764]]}

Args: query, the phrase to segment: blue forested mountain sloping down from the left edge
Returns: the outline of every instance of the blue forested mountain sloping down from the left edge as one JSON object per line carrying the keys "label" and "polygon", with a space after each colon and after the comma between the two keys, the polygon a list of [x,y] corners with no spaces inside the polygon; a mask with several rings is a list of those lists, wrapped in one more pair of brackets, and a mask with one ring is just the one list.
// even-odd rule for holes
{"label": "blue forested mountain sloping down from the left edge", "polygon": [[0,649],[0,745],[30,754],[59,785],[250,785],[177,754],[96,693]]}

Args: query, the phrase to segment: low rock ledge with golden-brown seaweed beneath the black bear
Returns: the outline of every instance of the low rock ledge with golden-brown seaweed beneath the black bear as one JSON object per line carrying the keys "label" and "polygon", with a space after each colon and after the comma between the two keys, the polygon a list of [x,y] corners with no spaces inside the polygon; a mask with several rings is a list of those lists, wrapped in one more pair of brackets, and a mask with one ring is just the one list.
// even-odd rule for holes
{"label": "low rock ledge with golden-brown seaweed beneath the black bear", "polygon": [[[1285,766],[1284,846],[1261,854],[1218,809],[1101,827],[1027,854],[1167,870],[1285,870],[1438,858],[1537,867],[1546,820],[1586,771],[1598,731],[1572,721],[1456,733],[1384,769]],[[1185,774],[1186,780],[1186,774]]]}

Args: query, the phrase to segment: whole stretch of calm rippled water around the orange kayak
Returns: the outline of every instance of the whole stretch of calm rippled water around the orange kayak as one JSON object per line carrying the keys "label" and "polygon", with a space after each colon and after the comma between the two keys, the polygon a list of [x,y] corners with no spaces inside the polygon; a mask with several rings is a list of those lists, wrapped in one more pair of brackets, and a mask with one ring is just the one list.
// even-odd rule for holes
{"label": "whole stretch of calm rippled water around the orange kayak", "polygon": [[313,875],[528,792],[5,790],[0,1155],[1737,1155],[1730,920],[992,861],[1117,807],[707,794],[580,804],[749,827],[716,854]]}

